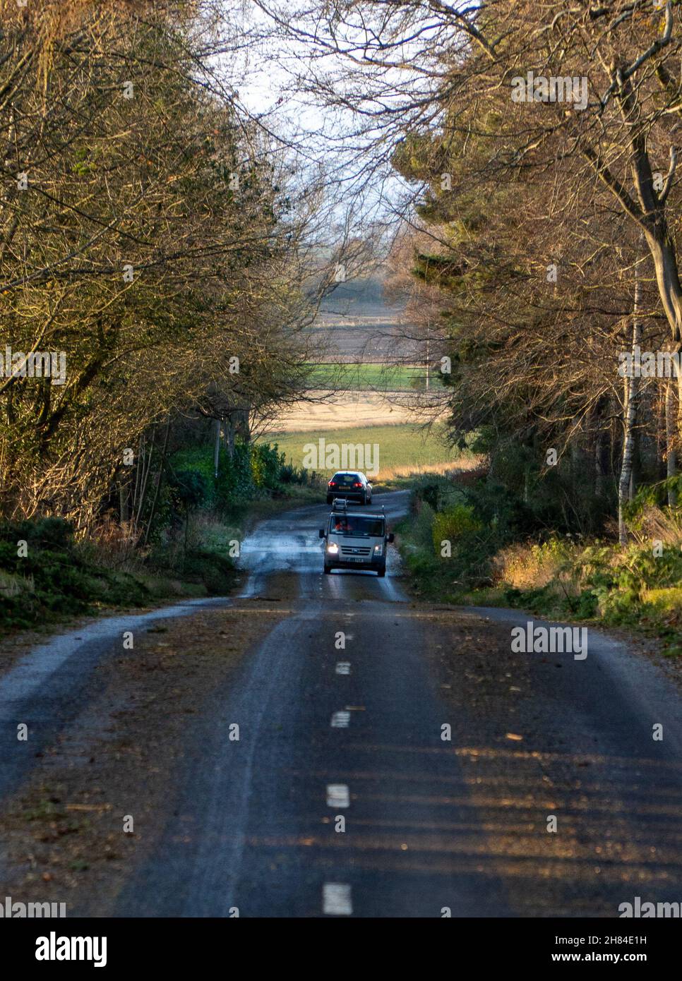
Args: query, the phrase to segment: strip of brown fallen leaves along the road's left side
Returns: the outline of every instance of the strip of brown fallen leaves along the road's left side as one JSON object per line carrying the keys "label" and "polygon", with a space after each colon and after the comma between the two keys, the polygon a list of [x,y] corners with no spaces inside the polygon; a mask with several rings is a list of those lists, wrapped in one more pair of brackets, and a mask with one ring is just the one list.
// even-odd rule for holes
{"label": "strip of brown fallen leaves along the road's left side", "polygon": [[8,896],[66,900],[69,916],[80,905],[88,915],[111,914],[174,806],[187,727],[289,612],[238,600],[204,608],[141,629],[134,650],[102,658],[79,714],[52,747],[36,751],[31,775],[0,816]]}

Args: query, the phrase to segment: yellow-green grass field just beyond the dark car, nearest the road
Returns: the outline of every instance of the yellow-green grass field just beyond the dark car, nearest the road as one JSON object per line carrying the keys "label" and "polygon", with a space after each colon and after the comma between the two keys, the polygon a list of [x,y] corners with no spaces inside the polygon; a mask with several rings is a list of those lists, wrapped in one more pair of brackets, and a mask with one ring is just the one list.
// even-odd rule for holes
{"label": "yellow-green grass field just beyond the dark car, nearest the road", "polygon": [[[324,439],[327,447],[336,443],[342,446],[343,443],[369,443],[372,446],[372,460],[374,460],[374,445],[376,443],[379,453],[379,476],[388,478],[409,471],[440,470],[447,467],[461,466],[461,454],[456,450],[448,449],[440,439],[441,430],[433,430],[431,434],[425,435],[419,427],[410,425],[398,426],[373,426],[360,429],[339,429],[339,430],[311,430],[303,433],[286,433],[284,435],[269,436],[266,439],[270,442],[277,442],[280,450],[283,450],[289,460],[297,467],[303,466],[306,452],[306,445],[313,443],[318,447],[319,440]],[[341,464],[340,464],[341,465]],[[368,466],[360,467],[355,464],[358,470],[370,469]],[[320,472],[330,473],[337,469],[324,465],[324,460],[318,459],[316,469]],[[348,467],[348,469],[351,469]]]}

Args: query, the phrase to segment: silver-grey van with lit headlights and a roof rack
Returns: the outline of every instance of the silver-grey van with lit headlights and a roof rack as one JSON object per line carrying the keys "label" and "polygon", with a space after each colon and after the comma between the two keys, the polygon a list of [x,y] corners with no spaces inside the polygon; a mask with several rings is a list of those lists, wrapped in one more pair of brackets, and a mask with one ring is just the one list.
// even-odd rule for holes
{"label": "silver-grey van with lit headlights and a roof rack", "polygon": [[374,569],[386,575],[386,546],[393,532],[386,534],[386,515],[349,511],[345,500],[335,498],[325,528],[325,572],[332,569]]}

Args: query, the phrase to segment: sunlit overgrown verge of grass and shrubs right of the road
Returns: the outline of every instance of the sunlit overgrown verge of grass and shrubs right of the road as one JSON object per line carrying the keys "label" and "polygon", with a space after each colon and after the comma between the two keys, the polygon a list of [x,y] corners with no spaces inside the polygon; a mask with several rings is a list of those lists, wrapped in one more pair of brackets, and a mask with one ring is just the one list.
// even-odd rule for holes
{"label": "sunlit overgrown verge of grass and shrubs right of the road", "polygon": [[411,592],[622,627],[658,638],[667,656],[682,656],[682,509],[651,500],[633,509],[625,548],[570,533],[529,536],[528,522],[523,506],[480,475],[468,486],[423,482],[397,527]]}

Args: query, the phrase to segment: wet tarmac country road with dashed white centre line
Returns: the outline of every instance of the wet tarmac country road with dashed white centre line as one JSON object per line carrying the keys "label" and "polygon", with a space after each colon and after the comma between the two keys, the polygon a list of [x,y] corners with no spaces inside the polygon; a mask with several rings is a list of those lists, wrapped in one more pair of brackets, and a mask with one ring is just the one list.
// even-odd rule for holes
{"label": "wet tarmac country road with dashed white centre line", "polygon": [[[377,495],[369,510],[382,503],[391,524],[407,493]],[[106,751],[93,699],[122,631],[163,622],[152,666],[167,663],[183,623],[198,632],[202,618],[238,613],[261,631],[228,674],[211,661],[215,684],[204,691],[201,682],[175,731],[177,765],[154,778],[139,847],[109,871],[93,858],[92,882],[86,868],[80,878],[71,866],[62,874],[61,843],[93,831],[85,822],[61,835],[57,821],[43,852],[57,865],[50,895],[61,895],[61,881],[75,914],[118,916],[617,916],[635,896],[679,902],[674,685],[592,629],[585,660],[512,652],[510,628],[528,617],[409,599],[393,549],[386,579],[324,576],[317,532],[328,512],[306,507],[263,522],[243,543],[248,579],[234,600],[101,620],[0,676],[2,807],[21,799],[27,781],[37,786],[41,768],[49,777],[54,745],[63,754],[76,747],[59,771],[73,798],[85,795],[83,759]],[[144,697],[147,678],[131,698]],[[108,691],[119,691],[115,679]],[[127,730],[130,699],[108,697],[121,746],[142,753],[119,753],[116,765],[145,760],[142,787],[163,763],[139,746],[143,728]],[[151,717],[149,705],[140,718]],[[28,744],[17,743],[20,722]],[[120,802],[113,787],[97,791],[107,801],[102,827],[135,810],[130,788]],[[0,841],[0,893],[19,896],[29,883],[38,895],[18,821],[11,832],[13,849]]]}

